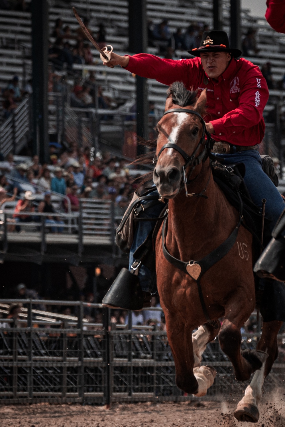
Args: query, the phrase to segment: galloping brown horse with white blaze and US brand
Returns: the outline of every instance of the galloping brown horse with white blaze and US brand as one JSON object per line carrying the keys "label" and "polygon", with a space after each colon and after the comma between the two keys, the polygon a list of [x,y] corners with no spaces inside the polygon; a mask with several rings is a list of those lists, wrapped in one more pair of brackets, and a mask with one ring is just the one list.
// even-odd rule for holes
{"label": "galloping brown horse with white blaze and US brand", "polygon": [[[240,330],[256,304],[252,236],[243,226],[238,228],[229,252],[200,279],[206,306],[202,310],[194,280],[201,269],[194,260],[201,260],[216,249],[239,222],[238,211],[213,180],[209,156],[204,156],[205,125],[199,115],[203,114],[205,105],[206,91],[196,100],[195,94],[176,82],[170,87],[166,100],[167,114],[157,125],[159,136],[153,181],[160,196],[169,199],[165,247],[178,260],[193,260],[187,272],[167,261],[161,228],[156,239],[157,287],[175,362],[177,386],[197,396],[206,394],[216,371],[200,363],[207,343],[218,333],[220,347],[231,360],[236,379],[248,380],[256,371],[235,417],[239,421],[257,421],[261,386],[278,355],[277,333],[282,322],[264,323],[257,351],[241,351]],[[180,111],[172,112],[172,109]],[[194,112],[185,113],[185,110]],[[170,146],[165,147],[165,144]],[[193,158],[190,163],[185,161],[186,156],[191,158],[193,153],[195,159],[200,156],[201,160],[203,156],[203,160],[196,164]],[[183,186],[185,163],[190,164],[185,168],[186,190],[190,195],[185,193]],[[224,317],[222,326],[218,322],[221,317]],[[211,321],[216,321],[216,326]]]}

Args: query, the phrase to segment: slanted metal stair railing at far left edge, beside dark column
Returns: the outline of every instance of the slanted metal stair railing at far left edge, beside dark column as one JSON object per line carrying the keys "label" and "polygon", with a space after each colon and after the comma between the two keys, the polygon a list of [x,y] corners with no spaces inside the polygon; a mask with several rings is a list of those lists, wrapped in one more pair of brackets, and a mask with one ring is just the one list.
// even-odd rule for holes
{"label": "slanted metal stair railing at far left edge, beside dark column", "polygon": [[31,135],[30,97],[26,97],[0,127],[0,152],[18,154]]}

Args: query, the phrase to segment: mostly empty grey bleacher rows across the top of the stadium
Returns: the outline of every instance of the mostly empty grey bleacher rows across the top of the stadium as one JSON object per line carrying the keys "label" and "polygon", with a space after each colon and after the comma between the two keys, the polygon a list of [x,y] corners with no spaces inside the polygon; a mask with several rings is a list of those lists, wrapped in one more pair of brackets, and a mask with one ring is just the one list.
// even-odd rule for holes
{"label": "mostly empty grey bleacher rows across the top of the stadium", "polygon": [[[59,6],[57,6],[57,4]],[[106,27],[106,41],[113,45],[115,52],[126,54],[128,49],[128,2],[126,0],[77,0],[72,3],[82,17],[90,18],[90,28],[94,34],[98,25],[104,23]],[[64,25],[69,25],[71,31],[78,28],[70,2],[51,2],[49,10],[50,36],[57,18],[62,18]],[[200,2],[198,0],[147,0],[147,17],[153,24],[162,19],[168,19],[171,32],[176,29],[187,28],[191,23],[209,24],[212,26],[212,0]],[[270,61],[273,78],[281,80],[284,76],[285,65],[285,37],[276,33],[264,18],[250,15],[247,9],[242,10],[242,33],[252,27],[257,30],[256,38],[259,53],[248,59],[262,67]],[[223,2],[224,29],[229,32],[229,2]],[[50,38],[53,42],[55,39]],[[69,40],[75,44],[75,40]],[[103,67],[97,50],[91,49],[94,56],[94,65],[74,64],[77,73],[82,70],[93,71],[97,82],[102,85],[105,93],[110,97],[120,99],[120,103],[135,100],[135,79],[126,70],[120,67],[106,70]],[[158,54],[156,47],[149,47],[149,53]],[[190,57],[185,51],[176,51],[175,58]],[[8,81],[17,74],[20,82],[31,77],[31,14],[29,12],[14,12],[1,10],[0,13],[0,88],[5,88]],[[71,76],[72,82],[72,76]],[[149,100],[155,102],[156,108],[164,107],[167,86],[149,80]],[[276,91],[275,91],[276,92]],[[274,96],[283,96],[282,92]],[[52,108],[50,107],[50,110]]]}

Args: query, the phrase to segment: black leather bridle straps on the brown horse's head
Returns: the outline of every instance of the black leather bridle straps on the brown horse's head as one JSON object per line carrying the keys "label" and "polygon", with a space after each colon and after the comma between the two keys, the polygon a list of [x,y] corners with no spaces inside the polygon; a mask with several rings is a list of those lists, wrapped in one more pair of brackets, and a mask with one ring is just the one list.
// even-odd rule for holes
{"label": "black leather bridle straps on the brown horse's head", "polygon": [[[187,174],[186,174],[186,169],[188,168],[188,166],[191,167],[191,170],[190,170],[190,173],[189,173],[189,175],[191,175],[191,173],[193,172],[194,168],[198,164],[200,164],[201,162],[204,162],[209,157],[210,152],[211,152],[212,147],[213,147],[213,144],[214,144],[214,140],[212,139],[211,134],[206,129],[206,123],[203,120],[203,117],[199,113],[197,113],[197,111],[189,110],[188,108],[170,108],[170,110],[165,111],[163,115],[165,116],[165,114],[169,114],[169,113],[188,113],[188,114],[195,114],[196,116],[199,117],[200,122],[202,123],[203,134],[202,134],[202,137],[201,137],[201,139],[200,139],[197,147],[195,148],[195,150],[194,150],[194,152],[192,153],[191,156],[189,156],[187,153],[185,153],[185,151],[182,150],[182,148],[180,148],[177,144],[166,143],[160,149],[159,154],[155,158],[153,158],[153,163],[154,163],[154,165],[156,165],[156,163],[157,163],[157,161],[159,159],[159,156],[161,155],[162,151],[165,150],[165,149],[167,149],[167,148],[173,148],[174,150],[178,151],[179,154],[181,154],[182,157],[185,160],[185,164],[182,167],[182,170],[183,170],[183,179],[182,179],[182,181],[183,181],[183,184],[184,184],[184,187],[185,187],[186,196],[187,197],[188,196],[190,196],[190,197],[191,196],[200,196],[200,197],[202,196],[202,197],[206,197],[206,196],[204,196],[203,193],[205,193],[205,191],[206,191],[206,187],[207,187],[207,185],[209,183],[211,173],[209,175],[209,179],[208,179],[208,182],[207,182],[206,187],[204,188],[204,190],[202,190],[200,193],[188,193],[187,184],[189,184],[190,182],[192,182],[194,180],[188,181]],[[167,139],[170,140],[169,137],[167,137]],[[204,144],[203,151],[199,155],[197,155],[197,157],[196,157],[197,152],[199,151],[200,147],[203,144]],[[194,179],[196,179],[197,176]]]}

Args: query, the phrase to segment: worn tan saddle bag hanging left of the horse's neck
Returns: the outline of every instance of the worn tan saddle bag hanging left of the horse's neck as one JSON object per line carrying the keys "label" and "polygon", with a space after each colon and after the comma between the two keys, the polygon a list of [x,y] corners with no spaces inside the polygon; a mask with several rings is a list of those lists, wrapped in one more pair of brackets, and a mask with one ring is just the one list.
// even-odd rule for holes
{"label": "worn tan saddle bag hanging left of the horse's neck", "polygon": [[158,194],[149,194],[153,192],[155,188],[150,188],[141,196],[138,193],[134,193],[132,201],[130,202],[124,216],[116,230],[115,241],[121,251],[129,253],[132,242],[134,239],[135,232],[135,221],[153,221],[155,218],[138,218],[137,216],[145,209],[159,203]]}

